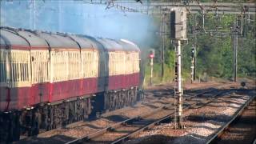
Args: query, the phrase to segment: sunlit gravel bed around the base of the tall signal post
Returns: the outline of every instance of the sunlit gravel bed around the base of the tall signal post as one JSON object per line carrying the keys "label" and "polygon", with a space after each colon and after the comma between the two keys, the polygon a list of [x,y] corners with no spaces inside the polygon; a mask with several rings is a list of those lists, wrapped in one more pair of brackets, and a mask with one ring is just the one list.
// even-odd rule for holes
{"label": "sunlit gravel bed around the base of the tall signal post", "polygon": [[175,130],[173,122],[161,124],[126,143],[206,143],[251,96],[256,94],[255,90],[248,91],[250,93],[225,94],[207,106],[186,110],[183,113],[183,130]]}

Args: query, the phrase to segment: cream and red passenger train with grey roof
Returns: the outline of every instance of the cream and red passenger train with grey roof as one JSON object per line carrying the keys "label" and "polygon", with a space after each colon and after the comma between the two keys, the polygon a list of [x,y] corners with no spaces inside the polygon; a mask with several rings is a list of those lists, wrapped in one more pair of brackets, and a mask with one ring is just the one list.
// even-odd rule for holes
{"label": "cream and red passenger train with grey roof", "polygon": [[142,98],[140,49],[125,39],[0,27],[0,142]]}

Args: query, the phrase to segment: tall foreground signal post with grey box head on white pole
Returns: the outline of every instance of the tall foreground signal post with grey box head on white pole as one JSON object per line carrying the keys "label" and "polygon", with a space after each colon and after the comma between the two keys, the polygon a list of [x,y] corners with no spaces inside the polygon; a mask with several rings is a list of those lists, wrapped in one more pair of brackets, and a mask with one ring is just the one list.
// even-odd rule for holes
{"label": "tall foreground signal post with grey box head on white pole", "polygon": [[170,12],[170,38],[176,42],[175,48],[175,127],[183,128],[182,124],[182,41],[186,38],[186,8],[178,8]]}

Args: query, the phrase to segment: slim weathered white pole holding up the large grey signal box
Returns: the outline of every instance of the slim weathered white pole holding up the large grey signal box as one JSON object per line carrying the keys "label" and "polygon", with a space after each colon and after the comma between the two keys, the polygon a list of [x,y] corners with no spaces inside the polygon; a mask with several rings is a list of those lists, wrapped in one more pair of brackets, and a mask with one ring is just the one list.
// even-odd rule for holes
{"label": "slim weathered white pole holding up the large grey signal box", "polygon": [[176,94],[178,95],[178,127],[182,129],[182,46],[181,40],[177,41],[177,74],[178,74],[178,82],[177,82],[177,91]]}

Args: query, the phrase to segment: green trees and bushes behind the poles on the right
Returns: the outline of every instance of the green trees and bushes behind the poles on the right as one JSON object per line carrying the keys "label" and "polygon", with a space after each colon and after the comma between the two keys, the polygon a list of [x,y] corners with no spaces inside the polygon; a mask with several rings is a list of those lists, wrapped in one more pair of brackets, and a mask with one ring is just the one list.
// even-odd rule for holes
{"label": "green trees and bushes behind the poles on the right", "polygon": [[[232,79],[234,66],[234,50],[232,27],[236,16],[232,14],[206,14],[205,30],[202,30],[202,16],[200,14],[191,15],[191,19],[196,22],[188,22],[188,44],[183,45],[183,77],[184,80],[190,80],[191,65],[191,47],[193,44],[192,26],[196,23],[196,48],[197,48],[197,75],[202,78],[205,73],[209,77]],[[238,19],[241,19],[238,17]],[[241,21],[238,21],[238,26]],[[255,17],[244,16],[242,34],[238,35],[238,77],[256,78],[256,24]],[[158,39],[158,45],[152,46],[156,51],[154,66],[154,83],[170,82],[174,79],[174,46],[170,38],[166,39],[165,48],[165,75],[161,78],[161,60],[160,46],[161,38]],[[147,85],[150,78],[150,67],[146,68]]]}

